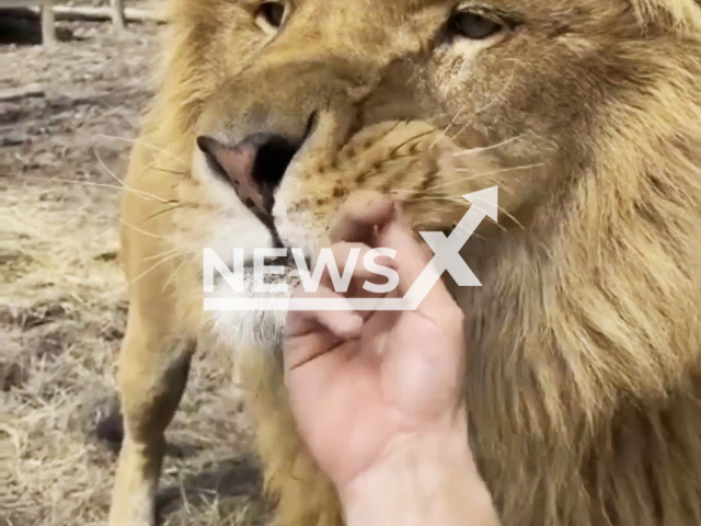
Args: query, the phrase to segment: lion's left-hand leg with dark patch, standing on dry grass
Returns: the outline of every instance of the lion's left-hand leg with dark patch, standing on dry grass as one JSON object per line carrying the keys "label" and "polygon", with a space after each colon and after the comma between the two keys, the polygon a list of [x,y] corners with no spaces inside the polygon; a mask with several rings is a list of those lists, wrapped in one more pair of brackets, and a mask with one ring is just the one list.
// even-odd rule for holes
{"label": "lion's left-hand leg with dark patch, standing on dry grass", "polygon": [[119,356],[124,442],[112,494],[110,526],[152,526],[165,449],[165,427],[180,403],[192,341],[161,338],[130,317]]}

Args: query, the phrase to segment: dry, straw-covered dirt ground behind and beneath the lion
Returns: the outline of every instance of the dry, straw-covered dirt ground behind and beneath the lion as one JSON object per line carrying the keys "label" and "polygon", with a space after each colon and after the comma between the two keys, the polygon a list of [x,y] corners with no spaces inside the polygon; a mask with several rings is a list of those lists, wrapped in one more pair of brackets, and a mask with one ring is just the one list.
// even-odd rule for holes
{"label": "dry, straw-covered dirt ground behind and beneath the lion", "polygon": [[[157,27],[61,23],[55,49],[0,46],[0,525],[104,525],[127,310],[118,178],[150,98]],[[68,32],[68,33],[67,33]],[[266,524],[251,431],[220,357],[196,359],[169,430],[165,525]],[[104,430],[102,430],[104,432]],[[104,435],[104,433],[102,433]]]}

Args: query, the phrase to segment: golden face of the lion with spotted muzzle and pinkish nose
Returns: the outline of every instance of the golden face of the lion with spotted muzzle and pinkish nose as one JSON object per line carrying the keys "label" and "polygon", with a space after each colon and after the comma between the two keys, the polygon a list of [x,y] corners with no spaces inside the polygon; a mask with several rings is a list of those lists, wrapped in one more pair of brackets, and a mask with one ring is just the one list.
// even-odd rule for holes
{"label": "golden face of the lion with spotted muzzle and pinkish nose", "polygon": [[683,53],[670,27],[699,18],[693,0],[177,5],[198,145],[182,186],[206,205],[182,221],[222,255],[311,255],[356,190],[392,193],[416,229],[450,229],[494,185],[502,231],[547,222],[651,65]]}

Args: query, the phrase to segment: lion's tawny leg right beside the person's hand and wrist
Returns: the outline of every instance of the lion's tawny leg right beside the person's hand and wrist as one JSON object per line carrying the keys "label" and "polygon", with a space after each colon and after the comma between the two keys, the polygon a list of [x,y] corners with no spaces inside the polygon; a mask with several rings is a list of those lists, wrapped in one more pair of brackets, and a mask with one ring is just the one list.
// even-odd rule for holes
{"label": "lion's tawny leg right beside the person's hand and wrist", "polygon": [[242,382],[256,421],[265,489],[277,502],[276,526],[341,526],[333,483],[304,446],[287,400],[278,362],[256,353],[241,364]]}

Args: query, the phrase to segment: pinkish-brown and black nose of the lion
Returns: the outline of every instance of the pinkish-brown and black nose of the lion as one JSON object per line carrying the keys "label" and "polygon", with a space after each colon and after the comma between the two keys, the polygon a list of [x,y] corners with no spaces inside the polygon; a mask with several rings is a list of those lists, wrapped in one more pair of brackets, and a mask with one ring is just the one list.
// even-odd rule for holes
{"label": "pinkish-brown and black nose of the lion", "polygon": [[210,168],[233,185],[241,202],[267,222],[275,188],[299,146],[274,134],[252,134],[234,147],[199,136],[197,146]]}

